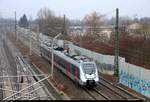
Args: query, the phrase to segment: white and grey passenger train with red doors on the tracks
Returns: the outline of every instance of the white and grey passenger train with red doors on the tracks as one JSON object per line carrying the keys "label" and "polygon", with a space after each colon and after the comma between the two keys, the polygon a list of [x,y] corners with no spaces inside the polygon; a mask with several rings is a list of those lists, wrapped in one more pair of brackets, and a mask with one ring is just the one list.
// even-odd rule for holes
{"label": "white and grey passenger train with red doors on the tracks", "polygon": [[[51,61],[51,47],[40,45],[41,56]],[[96,63],[85,56],[69,55],[62,47],[54,48],[54,65],[81,86],[95,86],[99,81]]]}

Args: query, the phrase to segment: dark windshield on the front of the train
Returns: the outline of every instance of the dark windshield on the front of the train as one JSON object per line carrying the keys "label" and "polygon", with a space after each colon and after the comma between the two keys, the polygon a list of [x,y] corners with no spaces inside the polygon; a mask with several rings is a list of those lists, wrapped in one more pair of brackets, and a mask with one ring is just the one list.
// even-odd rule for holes
{"label": "dark windshield on the front of the train", "polygon": [[83,71],[85,74],[94,74],[96,71],[96,68],[93,63],[84,63],[83,64]]}

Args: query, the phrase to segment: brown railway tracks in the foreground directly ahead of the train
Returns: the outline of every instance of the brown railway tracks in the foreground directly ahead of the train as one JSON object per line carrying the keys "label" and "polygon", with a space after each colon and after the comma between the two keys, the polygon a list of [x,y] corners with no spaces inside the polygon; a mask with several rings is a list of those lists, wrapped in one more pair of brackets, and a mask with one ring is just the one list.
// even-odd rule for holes
{"label": "brown railway tracks in the foreground directly ahead of the train", "polygon": [[121,90],[105,79],[100,79],[97,87],[90,89],[83,87],[83,89],[93,100],[144,100],[130,94],[129,92]]}

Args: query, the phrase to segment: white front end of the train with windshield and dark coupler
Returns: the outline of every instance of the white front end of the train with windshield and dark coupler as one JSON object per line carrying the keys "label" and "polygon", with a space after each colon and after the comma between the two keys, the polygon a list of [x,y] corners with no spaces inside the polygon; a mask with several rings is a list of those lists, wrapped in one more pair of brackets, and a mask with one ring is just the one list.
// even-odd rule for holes
{"label": "white front end of the train with windshield and dark coupler", "polygon": [[95,62],[83,62],[81,69],[82,84],[85,86],[96,86],[99,81],[99,76]]}

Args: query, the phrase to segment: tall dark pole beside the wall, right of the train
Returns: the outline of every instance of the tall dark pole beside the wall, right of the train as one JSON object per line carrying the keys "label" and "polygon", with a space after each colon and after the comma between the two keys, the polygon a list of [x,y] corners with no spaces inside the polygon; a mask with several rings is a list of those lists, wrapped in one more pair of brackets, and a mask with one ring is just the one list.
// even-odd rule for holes
{"label": "tall dark pole beside the wall, right of the train", "polygon": [[119,78],[119,9],[116,9],[114,75]]}

